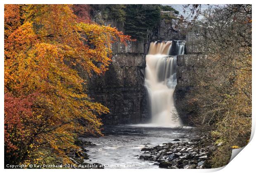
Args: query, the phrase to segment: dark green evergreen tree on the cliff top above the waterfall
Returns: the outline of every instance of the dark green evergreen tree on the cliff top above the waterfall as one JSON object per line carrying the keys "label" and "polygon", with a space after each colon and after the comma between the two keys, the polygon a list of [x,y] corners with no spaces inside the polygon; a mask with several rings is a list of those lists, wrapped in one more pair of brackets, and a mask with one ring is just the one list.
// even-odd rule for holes
{"label": "dark green evergreen tree on the cliff top above the waterfall", "polygon": [[142,40],[147,37],[147,30],[152,29],[159,23],[159,5],[127,5],[125,30],[136,39]]}

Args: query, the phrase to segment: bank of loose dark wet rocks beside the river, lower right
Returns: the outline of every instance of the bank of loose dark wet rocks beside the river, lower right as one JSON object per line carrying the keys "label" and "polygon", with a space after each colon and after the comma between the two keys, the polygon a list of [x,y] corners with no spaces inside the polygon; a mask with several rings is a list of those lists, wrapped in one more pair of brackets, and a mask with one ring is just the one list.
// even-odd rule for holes
{"label": "bank of loose dark wet rocks beside the river, lower right", "polygon": [[172,143],[142,148],[144,154],[139,159],[156,161],[160,168],[211,168],[208,160],[215,150],[216,146],[207,137],[186,142],[175,139]]}

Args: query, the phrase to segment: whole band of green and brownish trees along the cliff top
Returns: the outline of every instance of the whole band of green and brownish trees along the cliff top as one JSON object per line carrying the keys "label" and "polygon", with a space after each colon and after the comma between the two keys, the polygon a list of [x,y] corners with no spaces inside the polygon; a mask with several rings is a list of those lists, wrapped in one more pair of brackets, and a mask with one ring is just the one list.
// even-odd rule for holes
{"label": "whole band of green and brownish trees along the cliff top", "polygon": [[90,7],[92,10],[99,10],[103,20],[114,19],[117,22],[124,22],[125,33],[138,40],[146,38],[147,30],[152,30],[161,19],[165,19],[166,22],[177,19],[168,14],[161,15],[160,11],[174,11],[175,14],[179,14],[177,10],[168,5],[104,4],[90,5]]}

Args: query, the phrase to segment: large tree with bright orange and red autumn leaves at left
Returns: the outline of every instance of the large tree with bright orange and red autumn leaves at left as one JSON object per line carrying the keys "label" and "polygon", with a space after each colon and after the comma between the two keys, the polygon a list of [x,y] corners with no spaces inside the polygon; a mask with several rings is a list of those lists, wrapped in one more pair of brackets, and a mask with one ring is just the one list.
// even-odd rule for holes
{"label": "large tree with bright orange and red autumn leaves at left", "polygon": [[76,66],[89,76],[104,73],[111,44],[130,37],[86,22],[79,10],[5,5],[5,164],[47,163],[53,156],[69,163],[78,134],[101,134],[97,115],[108,109],[90,101]]}

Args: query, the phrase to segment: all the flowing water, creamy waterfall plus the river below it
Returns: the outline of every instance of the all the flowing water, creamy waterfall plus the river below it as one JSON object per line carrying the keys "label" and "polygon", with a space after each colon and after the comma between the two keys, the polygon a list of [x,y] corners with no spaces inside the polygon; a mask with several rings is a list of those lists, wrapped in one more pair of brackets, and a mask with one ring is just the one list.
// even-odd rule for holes
{"label": "all the flowing water, creamy waterfall plus the river below it", "polygon": [[103,137],[83,138],[96,144],[87,148],[90,159],[85,162],[100,163],[105,168],[159,168],[154,161],[138,159],[143,147],[195,137],[191,128],[178,128],[182,123],[177,114],[173,116],[176,111],[173,98],[177,84],[176,59],[177,55],[184,54],[184,47],[185,42],[177,40],[150,44],[145,87],[152,119],[149,124],[104,126]]}

